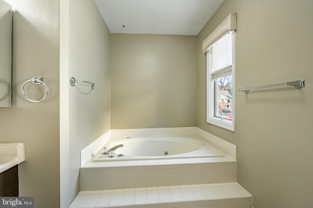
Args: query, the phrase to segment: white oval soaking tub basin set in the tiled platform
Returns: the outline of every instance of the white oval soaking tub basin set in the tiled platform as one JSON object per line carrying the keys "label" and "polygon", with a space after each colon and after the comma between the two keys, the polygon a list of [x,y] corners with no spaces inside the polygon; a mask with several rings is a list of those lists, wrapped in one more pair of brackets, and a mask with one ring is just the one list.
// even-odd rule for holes
{"label": "white oval soaking tub basin set in the tiled platform", "polygon": [[[197,135],[113,137],[105,147],[123,144],[114,151],[114,157],[102,154],[93,156],[91,162],[160,160],[179,158],[223,157],[224,153]],[[123,154],[123,156],[118,156]]]}

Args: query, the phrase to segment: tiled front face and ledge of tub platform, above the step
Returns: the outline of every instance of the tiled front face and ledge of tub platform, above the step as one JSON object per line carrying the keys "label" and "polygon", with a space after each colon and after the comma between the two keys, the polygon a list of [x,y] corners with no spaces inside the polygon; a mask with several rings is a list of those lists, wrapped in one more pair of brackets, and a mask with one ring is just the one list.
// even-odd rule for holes
{"label": "tiled front face and ledge of tub platform, above the step", "polygon": [[80,169],[81,190],[230,183],[236,181],[237,162],[228,156],[96,162],[87,163]]}

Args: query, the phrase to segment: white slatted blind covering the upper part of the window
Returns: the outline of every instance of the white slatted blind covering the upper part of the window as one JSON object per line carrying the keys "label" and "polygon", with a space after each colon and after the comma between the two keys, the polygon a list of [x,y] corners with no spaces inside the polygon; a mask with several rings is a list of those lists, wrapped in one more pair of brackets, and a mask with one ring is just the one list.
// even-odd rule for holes
{"label": "white slatted blind covering the upper part of the window", "polygon": [[232,33],[228,32],[210,48],[212,79],[231,75],[232,70]]}

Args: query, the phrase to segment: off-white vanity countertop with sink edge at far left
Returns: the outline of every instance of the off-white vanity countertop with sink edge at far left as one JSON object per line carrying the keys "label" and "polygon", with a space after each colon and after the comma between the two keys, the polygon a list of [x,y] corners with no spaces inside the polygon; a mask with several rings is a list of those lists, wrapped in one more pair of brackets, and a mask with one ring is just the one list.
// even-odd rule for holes
{"label": "off-white vanity countertop with sink edge at far left", "polygon": [[23,142],[0,142],[0,173],[25,160]]}

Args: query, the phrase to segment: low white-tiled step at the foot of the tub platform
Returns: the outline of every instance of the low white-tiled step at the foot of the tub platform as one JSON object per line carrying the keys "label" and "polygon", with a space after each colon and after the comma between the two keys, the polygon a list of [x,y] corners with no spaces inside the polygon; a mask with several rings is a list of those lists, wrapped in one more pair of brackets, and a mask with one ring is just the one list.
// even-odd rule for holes
{"label": "low white-tiled step at the foot of the tub platform", "polygon": [[252,208],[238,183],[80,191],[70,208]]}

